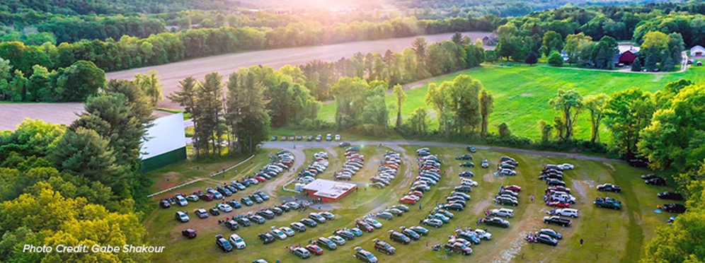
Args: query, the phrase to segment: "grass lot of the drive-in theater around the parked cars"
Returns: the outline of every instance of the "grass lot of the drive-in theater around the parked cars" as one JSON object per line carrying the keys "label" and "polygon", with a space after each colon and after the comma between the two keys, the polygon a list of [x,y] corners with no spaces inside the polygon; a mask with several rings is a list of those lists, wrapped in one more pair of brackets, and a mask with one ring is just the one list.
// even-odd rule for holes
{"label": "grass lot of the drive-in theater around the parked cars", "polygon": [[[457,173],[465,170],[458,167],[459,161],[454,160],[454,156],[465,153],[463,148],[440,148],[430,147],[432,153],[436,153],[444,161],[442,170],[445,170],[447,175],[442,178],[439,185],[433,187],[430,192],[426,192],[423,199],[420,201],[420,206],[411,206],[411,211],[401,217],[394,218],[392,221],[381,221],[384,227],[381,230],[376,230],[373,233],[365,233],[362,237],[348,241],[348,244],[338,247],[338,250],[328,251],[321,256],[313,256],[306,261],[309,262],[353,262],[352,254],[353,247],[361,246],[365,250],[373,251],[372,239],[381,238],[389,240],[387,230],[398,230],[400,226],[415,226],[419,220],[423,218],[432,206],[437,202],[445,201],[445,196],[452,192],[452,187],[459,182]],[[304,218],[313,210],[317,211],[318,207],[314,206],[306,212],[290,211],[282,216],[277,216],[271,221],[267,221],[263,225],[253,225],[248,228],[241,228],[235,233],[247,242],[247,247],[244,250],[235,250],[231,253],[223,253],[214,245],[214,235],[223,234],[230,235],[231,231],[217,224],[219,218],[233,216],[235,214],[244,214],[246,211],[253,211],[258,208],[257,205],[248,208],[237,209],[229,214],[221,216],[211,216],[207,219],[192,218],[188,223],[178,223],[174,220],[173,214],[177,210],[176,207],[171,209],[154,209],[144,219],[144,225],[149,233],[149,242],[152,245],[166,246],[165,252],[160,255],[154,255],[154,262],[192,262],[196,259],[199,262],[207,262],[214,260],[229,260],[234,262],[251,262],[253,259],[265,258],[270,262],[275,262],[279,259],[281,262],[297,262],[301,261],[297,257],[289,254],[285,247],[288,245],[305,245],[308,240],[316,239],[321,236],[329,236],[338,228],[352,227],[355,218],[360,218],[367,214],[384,210],[386,206],[396,204],[396,200],[403,194],[408,192],[409,182],[413,180],[415,174],[415,147],[380,147],[380,146],[365,146],[361,149],[361,153],[365,155],[365,167],[360,170],[354,177],[353,181],[367,183],[368,178],[377,169],[380,156],[384,151],[398,151],[402,153],[403,165],[400,168],[400,176],[397,177],[389,187],[385,189],[374,189],[361,187],[357,192],[349,194],[340,201],[333,204],[326,204],[323,209],[330,210],[336,214],[336,220],[322,224],[316,228],[309,228],[304,233],[297,233],[294,237],[287,240],[277,240],[269,245],[262,245],[256,238],[258,233],[265,232],[271,226],[288,226],[293,221],[298,221]],[[243,167],[243,173],[248,173],[250,170],[259,168],[266,162],[268,153],[266,151],[259,153],[254,158],[254,163],[249,165],[249,168]],[[301,150],[298,150],[301,151]],[[342,148],[311,148],[304,149],[302,153],[306,154],[306,160],[310,159],[312,153],[318,151],[327,151],[331,158],[331,165],[326,172],[321,174],[322,178],[331,178],[332,171],[340,168],[343,162]],[[408,154],[408,153],[411,153]],[[474,180],[480,185],[471,193],[472,200],[468,202],[468,206],[464,211],[456,212],[455,218],[449,224],[442,228],[429,228],[430,235],[414,241],[410,245],[401,245],[396,242],[391,242],[397,249],[396,255],[387,256],[375,253],[382,262],[394,260],[395,262],[463,262],[473,260],[478,262],[491,262],[494,260],[516,262],[542,261],[542,262],[585,262],[585,260],[599,262],[632,262],[643,255],[643,242],[652,238],[653,229],[656,226],[662,225],[665,220],[671,216],[668,214],[654,214],[653,209],[657,204],[663,203],[655,197],[657,192],[665,191],[666,187],[651,187],[644,185],[643,181],[638,178],[638,175],[648,173],[648,170],[640,170],[631,168],[623,163],[602,163],[589,160],[575,160],[570,158],[547,158],[543,156],[527,156],[521,154],[508,154],[495,151],[478,151],[475,153],[475,163],[479,163],[480,159],[487,158],[491,164],[494,164],[500,156],[509,155],[520,161],[520,166],[517,168],[519,173],[516,177],[495,177],[490,169],[471,168],[476,175]],[[336,158],[337,156],[337,158]],[[205,164],[196,163],[180,163],[171,165],[163,170],[150,173],[149,176],[157,179],[163,179],[167,174],[179,173],[182,177],[191,176],[189,173],[184,173],[184,170],[189,170],[190,166],[199,166],[200,171],[205,174],[214,172],[220,167],[225,167],[237,163],[239,160],[222,160],[219,162]],[[536,180],[538,172],[544,163],[573,163],[576,170],[566,172],[568,187],[573,188],[573,194],[578,198],[578,204],[575,208],[580,209],[580,218],[573,221],[573,226],[570,228],[558,228],[551,226],[564,235],[558,247],[549,247],[541,244],[527,244],[523,237],[528,231],[546,228],[541,222],[541,217],[549,210],[548,206],[541,204],[541,195],[545,187],[544,183]],[[306,165],[304,162],[302,165]],[[208,170],[211,169],[212,170]],[[193,178],[195,175],[191,176]],[[222,180],[231,180],[235,175],[226,176],[224,178],[209,178],[205,182],[199,182],[190,186],[183,191],[191,192],[194,189],[204,189],[205,187],[216,185]],[[285,175],[285,176],[293,176]],[[280,175],[281,177],[281,175]],[[277,177],[278,178],[278,177]],[[286,178],[286,177],[283,177]],[[278,180],[278,179],[277,179]],[[597,192],[595,185],[604,182],[614,182],[624,189],[621,194],[608,194],[623,202],[626,206],[622,211],[613,211],[609,209],[597,209],[592,205],[592,200],[598,195],[605,194]],[[265,184],[277,184],[277,181],[266,182]],[[520,193],[520,205],[512,207],[515,209],[515,218],[510,218],[512,226],[508,229],[490,227],[493,234],[493,239],[483,241],[480,245],[473,245],[474,253],[468,257],[461,255],[447,255],[445,252],[432,252],[430,247],[437,243],[445,243],[448,235],[452,235],[455,227],[475,227],[475,221],[482,216],[485,209],[496,208],[499,206],[491,202],[491,198],[497,192],[500,185],[520,185],[522,192]],[[273,192],[273,200],[266,201],[264,206],[275,204],[275,197],[288,195],[280,190],[280,185],[275,185],[277,188]],[[268,185],[260,184],[256,187],[250,187],[243,192],[239,192],[235,196],[239,198],[242,193],[249,194],[255,189],[263,189]],[[529,195],[535,194],[536,201],[529,201]],[[164,198],[164,197],[161,197]],[[155,206],[156,206],[155,198]],[[199,201],[196,204],[189,204],[182,210],[193,211],[201,206],[214,206],[214,202]],[[179,208],[181,209],[181,208]],[[192,213],[190,213],[192,214]],[[485,228],[486,226],[481,226]],[[183,228],[195,228],[199,236],[194,240],[185,240],[180,236],[180,230]],[[580,247],[578,240],[583,238],[585,246]],[[428,247],[426,243],[428,242]]]}

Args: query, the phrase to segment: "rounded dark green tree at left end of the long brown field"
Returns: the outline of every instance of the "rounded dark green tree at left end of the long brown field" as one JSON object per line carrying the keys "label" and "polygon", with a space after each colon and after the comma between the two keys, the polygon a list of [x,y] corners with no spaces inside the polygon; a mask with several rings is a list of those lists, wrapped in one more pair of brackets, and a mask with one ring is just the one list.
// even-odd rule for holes
{"label": "rounded dark green tree at left end of the long brown field", "polygon": [[84,101],[103,86],[105,71],[83,60],[69,66],[57,78],[57,93],[62,101]]}

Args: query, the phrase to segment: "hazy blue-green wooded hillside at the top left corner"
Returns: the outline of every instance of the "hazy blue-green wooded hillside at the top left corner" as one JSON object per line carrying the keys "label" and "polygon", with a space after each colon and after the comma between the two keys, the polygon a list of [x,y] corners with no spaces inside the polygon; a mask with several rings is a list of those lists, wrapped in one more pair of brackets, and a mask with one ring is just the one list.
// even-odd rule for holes
{"label": "hazy blue-green wooded hillside at the top left corner", "polygon": [[164,13],[189,9],[225,9],[239,3],[235,0],[2,0],[0,12],[39,11],[65,15]]}

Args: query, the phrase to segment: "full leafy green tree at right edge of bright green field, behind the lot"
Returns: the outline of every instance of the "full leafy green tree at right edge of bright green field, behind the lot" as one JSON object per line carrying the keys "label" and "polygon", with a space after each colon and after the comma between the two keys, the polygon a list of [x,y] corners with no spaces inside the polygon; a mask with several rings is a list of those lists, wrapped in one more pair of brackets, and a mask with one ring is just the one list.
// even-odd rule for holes
{"label": "full leafy green tree at right edge of bright green field, behind the lot", "polygon": [[612,131],[612,147],[629,158],[636,156],[639,133],[651,122],[655,102],[651,93],[630,88],[612,93],[604,105],[604,121]]}

